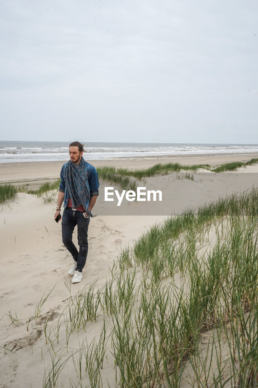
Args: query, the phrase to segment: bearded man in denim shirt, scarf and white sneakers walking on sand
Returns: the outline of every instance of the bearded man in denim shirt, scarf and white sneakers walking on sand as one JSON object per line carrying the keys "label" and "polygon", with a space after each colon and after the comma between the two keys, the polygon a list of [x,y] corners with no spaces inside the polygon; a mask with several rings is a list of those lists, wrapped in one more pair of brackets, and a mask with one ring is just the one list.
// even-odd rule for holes
{"label": "bearded man in denim shirt, scarf and white sneakers walking on sand", "polygon": [[[64,202],[62,239],[65,248],[74,259],[69,270],[69,275],[73,276],[72,283],[80,282],[83,277],[82,270],[88,254],[89,219],[93,217],[91,210],[95,205],[100,185],[97,171],[84,160],[83,151],[83,144],[79,142],[72,142],[69,145],[70,160],[62,166],[57,210],[54,215],[54,218],[60,215]],[[79,252],[72,242],[75,225]]]}

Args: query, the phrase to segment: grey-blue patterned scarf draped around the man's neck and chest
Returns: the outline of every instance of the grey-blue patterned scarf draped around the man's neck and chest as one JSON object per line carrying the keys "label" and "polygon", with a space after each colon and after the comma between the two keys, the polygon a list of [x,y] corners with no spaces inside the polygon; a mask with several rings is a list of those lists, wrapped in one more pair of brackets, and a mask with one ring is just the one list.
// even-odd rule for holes
{"label": "grey-blue patterned scarf draped around the man's neck and chest", "polygon": [[80,205],[84,208],[87,199],[90,197],[90,193],[85,182],[88,175],[89,174],[86,171],[86,163],[83,157],[81,157],[79,165],[76,165],[69,160],[65,166],[65,185],[67,187],[69,197],[71,198],[73,208],[78,208]]}

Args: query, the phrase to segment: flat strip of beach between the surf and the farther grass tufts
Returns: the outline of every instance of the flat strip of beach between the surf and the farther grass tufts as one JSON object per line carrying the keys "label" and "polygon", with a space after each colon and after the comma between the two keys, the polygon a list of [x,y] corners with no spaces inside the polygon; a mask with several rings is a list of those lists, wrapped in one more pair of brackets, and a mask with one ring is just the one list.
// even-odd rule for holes
{"label": "flat strip of beach between the surf and the farther grass tufts", "polygon": [[[84,155],[85,159],[87,155]],[[163,155],[156,157],[116,158],[90,161],[96,168],[98,166],[114,166],[123,168],[148,168],[157,163],[180,163],[181,165],[208,164],[217,166],[230,162],[247,162],[258,158],[258,153],[251,154],[192,154],[192,155]],[[66,161],[33,161],[33,162],[8,162],[0,163],[0,184],[11,183],[15,185],[26,184],[36,186],[47,181],[59,178],[62,165]]]}

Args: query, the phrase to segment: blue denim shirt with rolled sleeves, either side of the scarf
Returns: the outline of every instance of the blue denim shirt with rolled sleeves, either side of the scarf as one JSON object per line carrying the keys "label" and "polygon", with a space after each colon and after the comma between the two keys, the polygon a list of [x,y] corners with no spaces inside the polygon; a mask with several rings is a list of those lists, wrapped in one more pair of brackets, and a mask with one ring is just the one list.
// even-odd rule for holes
{"label": "blue denim shirt with rolled sleeves, either side of the scarf", "polygon": [[[65,180],[64,180],[64,168],[67,165],[67,163],[65,163],[62,166],[62,170],[60,172],[61,182],[60,182],[60,186],[59,186],[59,191],[62,191],[62,192],[65,193],[65,196],[64,196],[64,209],[66,208],[68,200],[69,200],[69,194],[68,194],[68,191],[66,189]],[[98,173],[97,173],[95,167],[93,167],[92,165],[90,165],[86,161],[85,161],[85,163],[86,163],[86,171],[89,174],[88,177],[86,178],[85,184],[87,185],[88,191],[90,192],[90,196],[98,195],[98,188],[100,186],[100,184],[98,182]],[[84,203],[84,206],[88,209],[89,198],[86,200],[86,203]]]}

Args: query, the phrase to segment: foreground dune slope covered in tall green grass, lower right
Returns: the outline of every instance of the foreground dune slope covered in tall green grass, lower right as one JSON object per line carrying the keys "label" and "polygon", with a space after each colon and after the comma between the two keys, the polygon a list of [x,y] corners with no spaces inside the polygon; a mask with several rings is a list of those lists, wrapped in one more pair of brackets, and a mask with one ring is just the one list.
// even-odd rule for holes
{"label": "foreground dune slope covered in tall green grass, lower right", "polygon": [[66,283],[62,314],[44,322],[43,388],[68,365],[71,387],[257,387],[257,210],[255,187],[189,208],[124,247],[104,284],[72,296]]}

